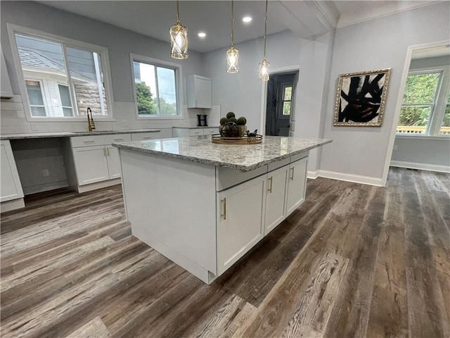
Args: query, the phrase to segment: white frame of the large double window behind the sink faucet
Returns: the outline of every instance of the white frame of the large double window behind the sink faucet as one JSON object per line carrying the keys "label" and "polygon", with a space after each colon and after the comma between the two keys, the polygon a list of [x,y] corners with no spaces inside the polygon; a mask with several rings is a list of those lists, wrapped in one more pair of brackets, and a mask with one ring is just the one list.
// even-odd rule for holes
{"label": "white frame of the large double window behind the sink faucet", "polygon": [[[47,32],[41,32],[39,30],[33,30],[31,28],[22,27],[19,25],[14,25],[11,23],[6,23],[6,29],[8,30],[9,42],[11,45],[11,52],[13,54],[13,63],[15,66],[15,72],[18,76],[19,89],[20,94],[22,96],[23,106],[25,110],[25,118],[28,122],[74,122],[74,121],[82,121],[86,119],[85,115],[75,114],[75,109],[77,109],[77,104],[74,104],[77,100],[73,97],[74,93],[72,91],[73,83],[70,78],[70,68],[67,57],[67,47],[74,47],[78,49],[84,49],[87,51],[91,51],[97,54],[100,54],[101,62],[102,62],[102,70],[103,70],[103,83],[105,86],[105,96],[106,96],[106,105],[108,106],[108,115],[96,115],[97,120],[101,121],[115,121],[114,116],[114,97],[113,97],[113,83],[111,81],[111,72],[110,72],[110,62],[108,49],[105,46],[98,46],[96,44],[89,44],[88,42],[82,42],[75,39],[70,39],[68,37],[61,37],[59,35],[53,35]],[[72,112],[74,116],[66,116],[66,117],[52,117],[52,116],[42,116],[36,117],[31,113],[30,101],[28,100],[27,89],[25,86],[25,76],[23,74],[22,64],[20,63],[18,46],[15,41],[15,34],[20,35],[29,35],[32,37],[37,37],[41,39],[48,39],[53,42],[57,42],[61,44],[63,48],[63,55],[65,57],[65,66],[66,73],[68,77],[68,87],[70,91],[70,99],[72,100]],[[59,95],[59,94],[58,94]]]}

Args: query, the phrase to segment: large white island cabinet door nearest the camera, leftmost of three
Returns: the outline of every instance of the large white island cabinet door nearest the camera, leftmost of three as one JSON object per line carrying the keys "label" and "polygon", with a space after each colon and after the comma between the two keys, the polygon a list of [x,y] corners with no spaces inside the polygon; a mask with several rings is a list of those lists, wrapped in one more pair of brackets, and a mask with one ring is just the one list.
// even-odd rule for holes
{"label": "large white island cabinet door nearest the camera, leftmost of three", "polygon": [[218,275],[264,237],[265,182],[262,175],[216,194]]}

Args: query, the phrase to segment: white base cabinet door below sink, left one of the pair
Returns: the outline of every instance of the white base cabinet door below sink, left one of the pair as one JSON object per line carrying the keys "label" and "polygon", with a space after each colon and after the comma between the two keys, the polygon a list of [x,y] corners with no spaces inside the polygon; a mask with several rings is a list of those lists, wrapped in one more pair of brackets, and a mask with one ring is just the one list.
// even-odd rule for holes
{"label": "white base cabinet door below sink, left one of the pair", "polygon": [[73,157],[78,185],[91,184],[110,179],[105,146],[74,148]]}

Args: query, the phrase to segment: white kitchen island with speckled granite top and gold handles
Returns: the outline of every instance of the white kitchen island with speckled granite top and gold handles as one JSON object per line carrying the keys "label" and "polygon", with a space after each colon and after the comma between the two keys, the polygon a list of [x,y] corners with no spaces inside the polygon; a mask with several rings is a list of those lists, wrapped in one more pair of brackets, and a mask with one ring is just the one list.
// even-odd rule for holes
{"label": "white kitchen island with speckled granite top and gold handles", "polygon": [[330,139],[115,143],[132,234],[210,284],[304,201],[309,150]]}

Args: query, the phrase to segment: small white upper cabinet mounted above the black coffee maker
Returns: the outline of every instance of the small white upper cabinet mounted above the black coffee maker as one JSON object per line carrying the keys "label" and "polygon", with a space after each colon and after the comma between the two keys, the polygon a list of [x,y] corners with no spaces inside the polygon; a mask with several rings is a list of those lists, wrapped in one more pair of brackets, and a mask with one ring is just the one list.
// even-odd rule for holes
{"label": "small white upper cabinet mounted above the black coffee maker", "polygon": [[200,75],[186,77],[188,108],[212,108],[211,79]]}

